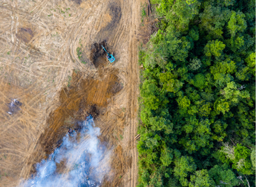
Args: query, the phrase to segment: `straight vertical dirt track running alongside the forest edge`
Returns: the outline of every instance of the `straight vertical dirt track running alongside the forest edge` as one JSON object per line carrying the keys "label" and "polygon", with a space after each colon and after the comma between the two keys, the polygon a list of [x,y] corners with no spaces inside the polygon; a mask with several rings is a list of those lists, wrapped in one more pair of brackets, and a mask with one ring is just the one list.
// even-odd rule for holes
{"label": "straight vertical dirt track running alongside the forest edge", "polygon": [[[135,25],[138,24],[138,17],[140,15],[140,2],[131,0],[131,30],[129,33],[129,142],[133,145],[128,154],[131,155],[133,162],[129,173],[125,176],[127,184],[125,186],[136,186],[138,175],[138,152],[134,137],[137,132],[137,96],[138,96],[138,45],[136,41]],[[128,28],[130,27],[127,26]]]}

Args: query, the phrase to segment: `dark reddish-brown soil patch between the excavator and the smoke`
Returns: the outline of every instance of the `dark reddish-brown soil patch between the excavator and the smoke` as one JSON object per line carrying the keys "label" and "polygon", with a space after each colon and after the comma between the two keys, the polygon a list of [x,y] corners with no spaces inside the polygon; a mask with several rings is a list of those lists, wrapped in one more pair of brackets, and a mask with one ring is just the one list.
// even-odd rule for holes
{"label": "dark reddish-brown soil patch between the excavator and the smoke", "polygon": [[67,131],[76,127],[77,121],[83,121],[89,114],[97,118],[100,112],[103,112],[103,108],[106,108],[108,98],[121,91],[118,86],[120,82],[116,76],[118,70],[106,68],[104,72],[105,76],[102,81],[93,79],[93,77],[83,79],[82,72],[73,72],[69,87],[61,90],[60,106],[50,112],[46,122],[48,128],[39,138],[39,147],[42,150],[35,151],[35,154],[40,155],[36,157],[33,155],[33,158],[37,159],[31,165],[46,159],[61,144]]}

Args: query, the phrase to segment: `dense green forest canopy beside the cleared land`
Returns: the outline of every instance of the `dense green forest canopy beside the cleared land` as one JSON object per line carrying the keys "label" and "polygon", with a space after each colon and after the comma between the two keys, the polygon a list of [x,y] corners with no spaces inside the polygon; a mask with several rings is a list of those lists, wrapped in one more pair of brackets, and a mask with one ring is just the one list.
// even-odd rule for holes
{"label": "dense green forest canopy beside the cleared land", "polygon": [[255,1],[151,3],[138,186],[255,186]]}

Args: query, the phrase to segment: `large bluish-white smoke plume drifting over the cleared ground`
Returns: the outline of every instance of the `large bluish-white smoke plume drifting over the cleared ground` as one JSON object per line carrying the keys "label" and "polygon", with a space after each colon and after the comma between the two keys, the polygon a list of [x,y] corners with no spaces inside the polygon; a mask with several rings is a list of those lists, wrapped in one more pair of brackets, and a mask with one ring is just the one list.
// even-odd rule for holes
{"label": "large bluish-white smoke plume drifting over the cleared ground", "polygon": [[[78,137],[79,135],[79,137]],[[24,187],[77,187],[100,186],[103,176],[110,171],[110,152],[99,144],[99,128],[93,118],[87,117],[82,131],[75,131],[63,138],[63,143],[47,160],[37,163],[37,173],[22,182]],[[57,163],[65,162],[65,171],[57,172]]]}

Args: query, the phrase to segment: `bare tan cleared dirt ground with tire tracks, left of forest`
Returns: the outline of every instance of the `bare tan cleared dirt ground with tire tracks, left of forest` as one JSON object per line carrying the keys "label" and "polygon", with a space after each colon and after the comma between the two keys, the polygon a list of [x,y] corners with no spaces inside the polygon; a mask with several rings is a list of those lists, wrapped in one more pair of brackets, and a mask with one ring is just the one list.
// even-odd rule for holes
{"label": "bare tan cleared dirt ground with tire tracks, left of forest", "polygon": [[[0,2],[1,186],[29,178],[89,113],[112,150],[103,186],[136,185],[142,2]],[[116,58],[112,64],[102,51],[92,58],[102,42]],[[14,99],[21,105],[10,114]]]}

